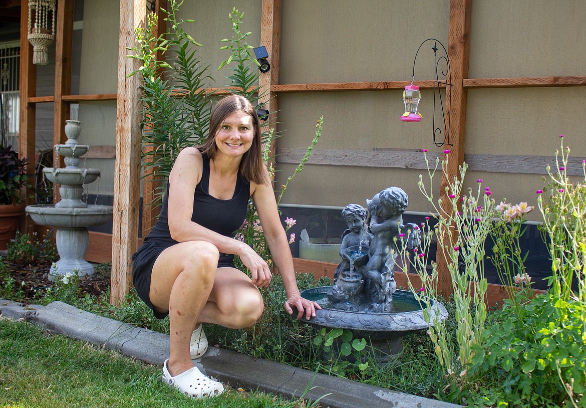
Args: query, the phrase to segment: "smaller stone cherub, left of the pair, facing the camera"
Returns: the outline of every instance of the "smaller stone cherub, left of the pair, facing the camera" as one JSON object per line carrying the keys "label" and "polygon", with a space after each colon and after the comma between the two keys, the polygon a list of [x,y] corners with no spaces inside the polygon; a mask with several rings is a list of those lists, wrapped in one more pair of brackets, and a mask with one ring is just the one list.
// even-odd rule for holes
{"label": "smaller stone cherub, left of the pair, facing the camera", "polygon": [[358,204],[349,204],[342,210],[342,218],[345,220],[348,229],[342,234],[342,244],[340,244],[340,257],[342,262],[338,264],[333,274],[334,280],[338,278],[340,272],[350,270],[350,259],[346,254],[349,247],[360,247],[368,249],[372,234],[366,227],[366,209]]}

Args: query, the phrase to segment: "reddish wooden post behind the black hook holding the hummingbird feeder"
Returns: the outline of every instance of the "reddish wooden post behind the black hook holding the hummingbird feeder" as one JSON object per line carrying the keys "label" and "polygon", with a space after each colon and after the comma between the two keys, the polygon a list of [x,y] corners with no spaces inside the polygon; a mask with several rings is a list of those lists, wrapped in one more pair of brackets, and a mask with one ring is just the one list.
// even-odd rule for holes
{"label": "reddish wooden post behind the black hook holding the hummingbird feeder", "polygon": [[[445,194],[448,180],[459,175],[458,166],[464,161],[464,141],[466,131],[466,98],[468,91],[464,88],[464,79],[468,77],[468,59],[470,51],[470,15],[472,0],[450,0],[449,2],[449,29],[448,29],[448,56],[452,72],[452,86],[447,87],[446,100],[451,98],[451,106],[447,104],[446,116],[450,121],[449,162],[447,178],[442,177],[440,198],[442,208],[451,212],[451,205]],[[452,247],[454,236],[444,240],[444,246]],[[438,290],[444,297],[452,294],[452,281],[448,271],[448,264],[438,243],[436,256],[438,268]]]}

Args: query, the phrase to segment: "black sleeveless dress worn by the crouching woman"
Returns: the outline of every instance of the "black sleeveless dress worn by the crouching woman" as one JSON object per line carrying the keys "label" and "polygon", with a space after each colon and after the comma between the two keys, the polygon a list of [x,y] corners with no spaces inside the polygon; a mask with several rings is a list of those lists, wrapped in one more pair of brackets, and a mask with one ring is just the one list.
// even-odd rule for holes
{"label": "black sleeveless dress worn by the crouching woman", "polygon": [[[191,220],[214,232],[231,237],[246,218],[248,199],[250,199],[250,182],[239,174],[236,178],[234,196],[231,199],[214,198],[208,193],[210,159],[205,154],[202,154],[202,159],[202,179],[195,188]],[[149,299],[152,266],[163,250],[178,243],[171,238],[169,232],[168,205],[169,183],[167,183],[167,192],[155,227],[144,239],[138,251],[132,255],[132,284],[134,284],[138,296],[153,310],[158,319],[165,318],[167,313],[155,311]],[[234,267],[234,255],[220,253],[218,267]]]}

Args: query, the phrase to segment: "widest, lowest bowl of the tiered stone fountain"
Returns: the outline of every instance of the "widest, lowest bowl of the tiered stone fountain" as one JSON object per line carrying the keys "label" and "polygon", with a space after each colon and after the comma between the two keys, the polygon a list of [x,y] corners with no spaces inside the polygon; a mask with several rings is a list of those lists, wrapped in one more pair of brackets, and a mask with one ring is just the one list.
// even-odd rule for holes
{"label": "widest, lowest bowl of the tiered stone fountain", "polygon": [[114,207],[110,205],[88,205],[86,208],[56,208],[54,205],[29,205],[26,213],[38,225],[57,228],[83,228],[110,222]]}

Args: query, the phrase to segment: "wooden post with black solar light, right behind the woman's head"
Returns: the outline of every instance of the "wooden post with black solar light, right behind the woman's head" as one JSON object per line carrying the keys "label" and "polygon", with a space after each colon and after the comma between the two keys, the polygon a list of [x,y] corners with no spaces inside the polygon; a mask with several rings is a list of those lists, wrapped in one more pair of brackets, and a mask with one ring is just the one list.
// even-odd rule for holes
{"label": "wooden post with black solar light, right behind the woman's head", "polygon": [[[277,131],[277,94],[272,92],[271,87],[278,84],[279,81],[279,58],[281,52],[281,0],[263,0],[263,10],[261,11],[261,45],[267,47],[268,61],[271,63],[271,69],[268,72],[261,73],[259,78],[260,91],[264,95],[260,102],[264,108],[268,109],[270,116],[267,122],[272,123]],[[268,130],[263,127],[263,132]],[[277,151],[275,140],[272,140],[271,152]]]}

